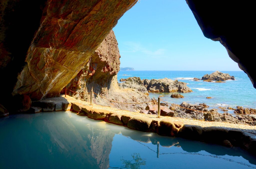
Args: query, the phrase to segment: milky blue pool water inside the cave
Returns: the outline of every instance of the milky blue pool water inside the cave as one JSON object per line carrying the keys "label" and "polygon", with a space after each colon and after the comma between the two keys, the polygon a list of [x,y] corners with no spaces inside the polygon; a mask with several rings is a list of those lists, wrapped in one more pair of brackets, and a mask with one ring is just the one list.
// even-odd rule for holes
{"label": "milky blue pool water inside the cave", "polygon": [[0,168],[256,168],[240,148],[159,136],[76,113],[0,119]]}

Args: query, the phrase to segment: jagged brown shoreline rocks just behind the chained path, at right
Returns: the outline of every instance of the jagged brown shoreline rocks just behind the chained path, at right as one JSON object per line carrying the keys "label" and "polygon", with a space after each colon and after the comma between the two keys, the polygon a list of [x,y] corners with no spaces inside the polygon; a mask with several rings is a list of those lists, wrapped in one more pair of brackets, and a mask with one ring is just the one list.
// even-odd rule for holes
{"label": "jagged brown shoreline rocks just behind the chained path, at right", "polygon": [[[249,108],[243,108],[241,106],[237,106],[236,111],[239,114],[246,114],[246,115],[233,116],[228,113],[218,113],[217,109],[208,110],[207,109],[208,107],[209,106],[206,105],[205,103],[200,103],[199,105],[195,105],[195,104],[189,104],[189,103],[183,102],[180,105],[172,104],[169,107],[170,111],[167,111],[167,108],[168,108],[167,105],[161,105],[160,109],[161,109],[161,116],[197,119],[197,120],[204,120],[209,122],[212,121],[212,122],[227,122],[227,123],[233,123],[233,124],[248,124],[251,126],[256,126],[256,114],[249,114],[249,113],[255,113],[256,112],[255,109],[252,109],[252,108],[249,109]],[[158,110],[157,105],[150,105],[150,106],[147,106],[145,110],[141,110],[140,113],[157,114],[157,110]],[[222,110],[225,110],[225,109],[222,109]]]}

